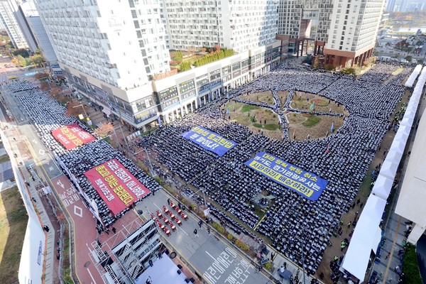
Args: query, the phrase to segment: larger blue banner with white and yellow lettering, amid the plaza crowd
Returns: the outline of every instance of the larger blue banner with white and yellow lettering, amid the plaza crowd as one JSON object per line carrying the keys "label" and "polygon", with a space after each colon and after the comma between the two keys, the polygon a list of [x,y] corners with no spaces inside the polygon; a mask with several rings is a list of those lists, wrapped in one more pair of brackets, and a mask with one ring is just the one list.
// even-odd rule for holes
{"label": "larger blue banner with white and yellow lettering, amid the plaza crowd", "polygon": [[317,200],[327,186],[327,180],[265,152],[257,153],[245,165],[280,185],[294,190],[308,200]]}

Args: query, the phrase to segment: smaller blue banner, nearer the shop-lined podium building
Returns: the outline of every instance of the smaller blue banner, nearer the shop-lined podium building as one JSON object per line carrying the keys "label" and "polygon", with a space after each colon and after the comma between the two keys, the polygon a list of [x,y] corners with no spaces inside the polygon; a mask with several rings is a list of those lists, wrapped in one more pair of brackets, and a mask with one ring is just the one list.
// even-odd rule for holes
{"label": "smaller blue banner, nearer the shop-lined podium building", "polygon": [[236,146],[234,141],[223,138],[201,126],[195,126],[190,131],[182,133],[182,136],[220,157]]}

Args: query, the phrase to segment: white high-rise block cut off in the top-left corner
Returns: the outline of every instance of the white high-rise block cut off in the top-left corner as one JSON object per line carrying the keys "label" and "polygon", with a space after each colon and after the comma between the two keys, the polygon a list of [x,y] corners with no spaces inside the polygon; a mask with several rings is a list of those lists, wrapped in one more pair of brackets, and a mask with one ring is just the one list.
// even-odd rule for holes
{"label": "white high-rise block cut off in the top-left corner", "polygon": [[18,26],[18,22],[14,16],[14,13],[18,11],[18,6],[14,0],[0,0],[0,21],[6,29],[11,43],[14,48],[28,48],[26,38],[23,36],[21,28]]}

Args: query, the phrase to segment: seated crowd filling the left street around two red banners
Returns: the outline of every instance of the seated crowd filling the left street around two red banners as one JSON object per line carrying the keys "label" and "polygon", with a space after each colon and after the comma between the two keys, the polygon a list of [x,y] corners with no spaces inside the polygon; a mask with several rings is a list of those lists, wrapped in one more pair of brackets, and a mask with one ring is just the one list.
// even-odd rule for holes
{"label": "seated crowd filling the left street around two red banners", "polygon": [[[16,88],[13,87],[13,89]],[[64,173],[69,178],[69,174],[72,174],[75,179],[71,178],[71,180],[75,183],[75,186],[82,190],[90,200],[94,200],[97,203],[99,215],[104,225],[109,226],[113,224],[115,220],[126,213],[129,208],[124,209],[114,216],[99,193],[92,187],[92,184],[84,175],[87,170],[105,163],[112,158],[116,158],[133,176],[145,185],[148,190],[152,192],[159,189],[159,185],[155,180],[150,178],[141,168],[138,168],[129,158],[126,158],[123,153],[113,148],[107,141],[100,139],[67,151],[52,136],[53,130],[75,123],[87,132],[90,132],[90,130],[84,124],[80,124],[80,121],[74,117],[65,116],[65,107],[58,104],[55,99],[50,98],[45,92],[38,89],[28,91],[26,88],[23,88],[16,96],[21,102],[23,110],[26,111],[26,114],[28,114],[33,121],[38,136],[42,139],[51,153],[53,153],[56,160],[60,161],[60,166],[62,170],[64,170]],[[137,200],[137,202],[139,201],[141,200]],[[86,202],[86,200],[84,200],[84,202]]]}

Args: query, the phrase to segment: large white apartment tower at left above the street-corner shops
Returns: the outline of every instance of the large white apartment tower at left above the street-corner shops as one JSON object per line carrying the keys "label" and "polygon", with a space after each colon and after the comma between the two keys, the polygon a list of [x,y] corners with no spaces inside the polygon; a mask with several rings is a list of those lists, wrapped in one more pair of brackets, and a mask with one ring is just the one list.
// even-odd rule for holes
{"label": "large white apartment tower at left above the street-corner shops", "polygon": [[170,68],[158,1],[35,0],[35,6],[61,69],[88,97],[131,125],[155,116],[150,76]]}

